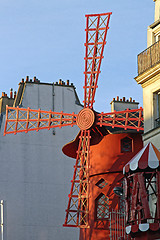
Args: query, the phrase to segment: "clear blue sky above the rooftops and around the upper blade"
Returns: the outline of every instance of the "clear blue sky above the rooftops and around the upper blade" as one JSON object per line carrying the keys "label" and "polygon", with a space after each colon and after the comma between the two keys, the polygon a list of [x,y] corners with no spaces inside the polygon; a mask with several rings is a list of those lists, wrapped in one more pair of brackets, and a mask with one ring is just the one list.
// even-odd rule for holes
{"label": "clear blue sky above the rooftops and around the upper blade", "polygon": [[[0,0],[0,91],[22,78],[67,79],[83,101],[85,14],[112,12],[94,109],[110,112],[116,97],[143,106],[137,55],[147,48],[153,0]],[[1,93],[0,93],[1,94]]]}

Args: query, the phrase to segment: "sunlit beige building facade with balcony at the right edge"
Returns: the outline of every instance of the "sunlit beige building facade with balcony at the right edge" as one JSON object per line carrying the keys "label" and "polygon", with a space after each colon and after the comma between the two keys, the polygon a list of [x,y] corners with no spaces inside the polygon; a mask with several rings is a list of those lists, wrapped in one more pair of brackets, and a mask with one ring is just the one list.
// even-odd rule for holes
{"label": "sunlit beige building facade with balcony at the right edge", "polygon": [[138,55],[138,76],[143,88],[144,145],[160,150],[160,0],[155,2],[154,23],[147,30],[147,49]]}

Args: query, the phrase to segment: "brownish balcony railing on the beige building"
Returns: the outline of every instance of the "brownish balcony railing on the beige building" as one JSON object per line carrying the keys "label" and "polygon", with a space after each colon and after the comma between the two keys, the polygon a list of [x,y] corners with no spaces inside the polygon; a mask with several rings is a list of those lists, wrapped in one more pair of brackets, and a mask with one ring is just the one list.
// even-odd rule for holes
{"label": "brownish balcony railing on the beige building", "polygon": [[160,62],[160,41],[138,55],[138,75]]}

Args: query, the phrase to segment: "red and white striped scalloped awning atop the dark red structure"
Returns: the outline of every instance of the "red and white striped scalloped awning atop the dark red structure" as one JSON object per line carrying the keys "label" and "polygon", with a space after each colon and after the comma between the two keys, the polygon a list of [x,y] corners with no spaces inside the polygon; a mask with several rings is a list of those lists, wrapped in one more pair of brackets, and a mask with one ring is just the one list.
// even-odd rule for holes
{"label": "red and white striped scalloped awning atop the dark red structure", "polygon": [[148,143],[124,166],[123,173],[147,167],[156,169],[159,166],[160,152],[152,143]]}

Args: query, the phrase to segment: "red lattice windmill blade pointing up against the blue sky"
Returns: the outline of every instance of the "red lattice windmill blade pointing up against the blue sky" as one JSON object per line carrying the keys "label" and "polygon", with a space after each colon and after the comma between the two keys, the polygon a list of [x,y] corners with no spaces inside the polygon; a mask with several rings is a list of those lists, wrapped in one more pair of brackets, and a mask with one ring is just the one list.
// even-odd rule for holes
{"label": "red lattice windmill blade pointing up against the blue sky", "polygon": [[86,15],[84,107],[93,107],[111,14]]}

